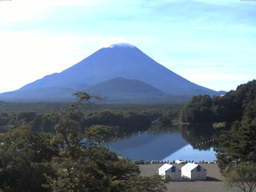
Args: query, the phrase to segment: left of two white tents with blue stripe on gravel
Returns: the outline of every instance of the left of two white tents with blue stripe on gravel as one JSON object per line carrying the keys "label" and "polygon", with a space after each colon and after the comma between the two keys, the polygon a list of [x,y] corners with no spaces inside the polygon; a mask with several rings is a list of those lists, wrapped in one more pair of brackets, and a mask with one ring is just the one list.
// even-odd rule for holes
{"label": "left of two white tents with blue stripe on gravel", "polygon": [[159,169],[159,175],[168,175],[172,181],[181,181],[181,171],[173,165],[164,164]]}

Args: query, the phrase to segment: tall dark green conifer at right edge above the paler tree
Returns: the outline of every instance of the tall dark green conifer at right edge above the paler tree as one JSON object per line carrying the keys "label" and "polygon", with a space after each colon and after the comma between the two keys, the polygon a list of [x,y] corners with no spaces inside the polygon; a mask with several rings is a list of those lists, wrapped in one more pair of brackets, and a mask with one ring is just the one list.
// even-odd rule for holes
{"label": "tall dark green conifer at right edge above the paler tree", "polygon": [[217,150],[218,166],[226,170],[233,160],[256,163],[256,99],[248,103],[242,121],[232,124],[229,131],[223,131]]}

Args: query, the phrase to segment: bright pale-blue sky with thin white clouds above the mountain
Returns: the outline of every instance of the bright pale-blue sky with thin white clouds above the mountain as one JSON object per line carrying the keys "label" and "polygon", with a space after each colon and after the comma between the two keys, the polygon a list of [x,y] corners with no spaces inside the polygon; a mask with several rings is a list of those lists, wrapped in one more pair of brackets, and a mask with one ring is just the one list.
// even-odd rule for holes
{"label": "bright pale-blue sky with thin white clouds above the mountain", "polygon": [[184,78],[236,89],[256,74],[256,1],[0,1],[0,92],[132,42]]}

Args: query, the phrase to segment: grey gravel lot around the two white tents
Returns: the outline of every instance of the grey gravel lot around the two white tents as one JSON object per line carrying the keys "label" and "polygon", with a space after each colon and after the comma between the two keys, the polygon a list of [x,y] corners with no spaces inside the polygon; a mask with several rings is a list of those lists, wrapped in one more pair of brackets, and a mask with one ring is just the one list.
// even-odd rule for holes
{"label": "grey gravel lot around the two white tents", "polygon": [[[230,190],[222,188],[224,182],[217,164],[199,163],[200,166],[207,170],[206,181],[190,181],[182,178],[182,181],[169,182],[167,184],[168,192],[242,192],[239,188]],[[163,164],[145,164],[140,165],[142,176],[151,176],[158,174],[158,168]],[[174,164],[178,169],[181,169],[184,164]]]}

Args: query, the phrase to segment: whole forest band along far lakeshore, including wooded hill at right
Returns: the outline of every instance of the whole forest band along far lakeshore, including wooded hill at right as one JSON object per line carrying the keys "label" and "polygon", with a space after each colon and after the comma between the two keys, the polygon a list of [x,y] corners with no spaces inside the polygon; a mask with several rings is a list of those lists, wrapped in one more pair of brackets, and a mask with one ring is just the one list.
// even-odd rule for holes
{"label": "whole forest band along far lakeshore, including wooded hill at right", "polygon": [[[256,83],[241,84],[224,96],[194,96],[187,104],[93,104],[81,106],[72,115],[81,127],[94,124],[138,127],[170,124],[213,124],[241,120],[247,104],[254,99]],[[49,112],[65,110],[66,103],[12,103],[0,101],[0,129],[12,130],[28,124],[33,131],[53,132],[54,126],[44,118]]]}

